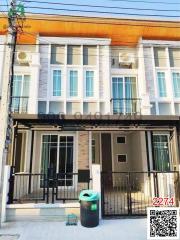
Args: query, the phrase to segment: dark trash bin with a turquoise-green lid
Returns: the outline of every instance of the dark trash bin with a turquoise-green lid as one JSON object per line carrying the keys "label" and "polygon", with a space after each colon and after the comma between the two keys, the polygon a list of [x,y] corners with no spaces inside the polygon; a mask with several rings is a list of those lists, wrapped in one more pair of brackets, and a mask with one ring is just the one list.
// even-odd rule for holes
{"label": "dark trash bin with a turquoise-green lid", "polygon": [[84,227],[99,225],[99,194],[92,190],[83,190],[79,195],[80,221]]}

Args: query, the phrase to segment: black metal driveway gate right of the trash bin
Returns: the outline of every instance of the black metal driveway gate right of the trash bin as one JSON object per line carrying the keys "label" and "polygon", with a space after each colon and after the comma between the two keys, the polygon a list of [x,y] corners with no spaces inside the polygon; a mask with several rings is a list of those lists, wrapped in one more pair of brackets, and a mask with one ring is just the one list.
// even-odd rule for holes
{"label": "black metal driveway gate right of the trash bin", "polygon": [[153,197],[174,197],[178,202],[178,172],[102,172],[102,215],[146,215]]}

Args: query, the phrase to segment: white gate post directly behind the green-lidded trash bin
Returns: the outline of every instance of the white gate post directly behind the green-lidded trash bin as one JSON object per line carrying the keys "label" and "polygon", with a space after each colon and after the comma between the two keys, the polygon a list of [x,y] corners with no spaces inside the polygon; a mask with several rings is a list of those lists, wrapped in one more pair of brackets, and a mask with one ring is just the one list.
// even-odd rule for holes
{"label": "white gate post directly behind the green-lidded trash bin", "polygon": [[99,164],[92,164],[92,189],[99,193],[99,218],[101,219],[101,167]]}

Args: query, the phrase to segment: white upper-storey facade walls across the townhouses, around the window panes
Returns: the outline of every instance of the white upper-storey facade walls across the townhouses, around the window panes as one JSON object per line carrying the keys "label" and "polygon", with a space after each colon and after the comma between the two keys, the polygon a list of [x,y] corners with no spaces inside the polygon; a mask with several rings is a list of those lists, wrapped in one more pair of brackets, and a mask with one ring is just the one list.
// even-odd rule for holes
{"label": "white upper-storey facade walls across the townhouses, around the window panes", "polygon": [[[1,37],[0,41],[2,41]],[[141,99],[141,114],[180,114],[180,99],[174,97],[171,74],[173,71],[168,59],[168,47],[180,47],[178,42],[141,40],[134,48],[111,47],[110,39],[90,38],[63,38],[63,37],[37,37],[39,45],[27,48],[31,55],[29,66],[15,65],[15,74],[31,76],[29,86],[28,113],[65,113],[75,114],[112,114],[112,78],[131,76],[137,79],[137,98]],[[51,64],[51,44],[65,46],[64,64]],[[69,45],[80,46],[80,64],[67,65],[67,48]],[[83,46],[96,46],[96,64],[83,65]],[[155,67],[154,46],[166,48],[166,68]],[[0,70],[3,68],[3,48],[0,46]],[[22,48],[22,49],[21,49]],[[26,51],[26,46],[18,47],[17,51]],[[137,64],[133,68],[122,68],[118,64],[112,66],[113,54],[119,52],[134,54]],[[62,72],[62,94],[53,96],[53,70]],[[78,71],[78,96],[69,96],[69,71]],[[94,96],[85,96],[85,73],[94,71]],[[160,98],[158,95],[157,71],[166,72],[168,96]],[[1,92],[0,71],[0,92]],[[41,109],[44,109],[41,112]]]}

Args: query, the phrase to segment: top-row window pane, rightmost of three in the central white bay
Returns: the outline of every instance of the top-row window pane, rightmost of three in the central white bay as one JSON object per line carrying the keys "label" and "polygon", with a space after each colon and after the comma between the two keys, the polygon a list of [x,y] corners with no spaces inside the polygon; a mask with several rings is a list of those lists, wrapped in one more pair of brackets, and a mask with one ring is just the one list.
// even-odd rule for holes
{"label": "top-row window pane, rightmost of three in the central white bay", "polygon": [[96,65],[96,46],[83,46],[83,65]]}

